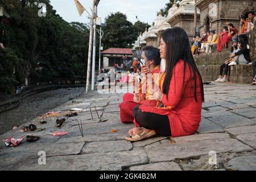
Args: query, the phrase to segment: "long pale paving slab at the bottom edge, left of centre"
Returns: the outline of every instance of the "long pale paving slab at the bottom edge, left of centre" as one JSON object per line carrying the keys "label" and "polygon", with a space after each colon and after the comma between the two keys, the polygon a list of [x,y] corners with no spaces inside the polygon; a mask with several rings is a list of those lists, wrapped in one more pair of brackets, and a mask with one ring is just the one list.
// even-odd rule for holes
{"label": "long pale paving slab at the bottom edge, left of centre", "polygon": [[120,171],[123,168],[146,164],[144,150],[108,152],[76,156],[54,156],[46,159],[46,165],[38,165],[38,159],[29,159],[14,170],[23,171]]}

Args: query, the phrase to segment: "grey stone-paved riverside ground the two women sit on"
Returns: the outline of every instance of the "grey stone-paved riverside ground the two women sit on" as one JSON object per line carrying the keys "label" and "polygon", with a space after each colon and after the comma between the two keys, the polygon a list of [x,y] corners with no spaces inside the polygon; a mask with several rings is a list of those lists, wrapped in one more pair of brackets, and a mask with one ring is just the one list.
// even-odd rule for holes
{"label": "grey stone-paved riverside ground the two women sit on", "polygon": [[[19,133],[20,126],[1,135],[1,141],[28,134],[42,138],[35,143],[23,140],[17,147],[1,144],[0,170],[256,170],[255,86],[207,85],[202,121],[196,134],[156,137],[134,143],[124,139],[133,124],[120,122],[118,104],[121,101],[122,94],[90,92],[55,109],[85,109],[77,117],[67,118],[61,129],[54,127],[56,118],[46,118],[43,120],[47,120],[47,124],[36,124],[45,128],[44,131],[24,135]],[[89,106],[97,106],[102,121],[108,121],[98,122],[95,111],[92,111],[92,121]],[[82,119],[85,142],[76,119]],[[113,129],[117,131],[112,132]],[[58,130],[69,134],[49,135]],[[46,152],[46,165],[38,164],[39,151]],[[214,161],[211,160],[214,156],[216,163],[209,163]]]}

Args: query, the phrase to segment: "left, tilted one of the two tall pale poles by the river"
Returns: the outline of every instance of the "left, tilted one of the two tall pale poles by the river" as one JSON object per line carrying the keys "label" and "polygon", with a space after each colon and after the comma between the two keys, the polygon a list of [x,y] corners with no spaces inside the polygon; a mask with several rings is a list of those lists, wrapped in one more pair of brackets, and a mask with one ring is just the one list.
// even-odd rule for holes
{"label": "left, tilted one of the two tall pale poles by the river", "polygon": [[90,85],[90,63],[92,62],[92,42],[93,42],[93,20],[95,18],[95,2],[93,0],[92,16],[90,18],[90,38],[89,38],[89,50],[88,50],[88,64],[87,64],[87,75],[86,75],[86,93],[88,93]]}

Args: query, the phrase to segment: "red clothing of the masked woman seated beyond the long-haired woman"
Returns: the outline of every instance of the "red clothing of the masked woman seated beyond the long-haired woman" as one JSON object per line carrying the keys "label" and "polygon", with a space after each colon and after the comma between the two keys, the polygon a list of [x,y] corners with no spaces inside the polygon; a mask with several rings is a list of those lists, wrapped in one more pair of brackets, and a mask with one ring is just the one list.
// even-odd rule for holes
{"label": "red clothing of the masked woman seated beyond the long-haired woman", "polygon": [[[155,74],[159,74],[160,72],[160,68],[159,66],[156,67],[152,72],[152,76],[154,77]],[[144,86],[142,84],[139,85],[139,92],[141,93],[140,94],[140,97],[141,97],[141,102],[134,102],[133,101],[133,97],[134,97],[134,94],[132,93],[126,93],[124,96],[123,96],[123,102],[121,104],[119,104],[118,107],[120,107],[120,119],[121,119],[121,122],[122,123],[135,123],[134,121],[134,117],[133,117],[133,109],[134,107],[136,106],[139,106],[141,104],[144,104],[144,105],[151,105],[151,106],[156,106],[157,104],[157,101],[155,100],[147,100],[147,94],[143,94],[142,93],[142,89],[144,89]],[[146,92],[150,92],[149,90],[146,90]],[[137,127],[139,127],[137,125],[137,123],[135,123],[135,125]]]}

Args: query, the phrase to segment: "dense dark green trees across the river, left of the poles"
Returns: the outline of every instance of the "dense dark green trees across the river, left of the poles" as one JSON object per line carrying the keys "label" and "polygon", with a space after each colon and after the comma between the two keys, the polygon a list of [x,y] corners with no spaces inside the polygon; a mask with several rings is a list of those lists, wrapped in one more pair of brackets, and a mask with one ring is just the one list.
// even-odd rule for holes
{"label": "dense dark green trees across the river, left of the poles", "polygon": [[[25,78],[36,84],[85,77],[89,40],[86,25],[65,22],[49,0],[40,0],[47,5],[46,16],[40,17],[38,3],[38,0],[0,0],[0,7],[11,16],[9,24],[0,24],[0,40],[6,47],[0,48],[2,93],[13,93],[15,86],[24,84]],[[38,63],[44,64],[42,72],[36,71]]]}

